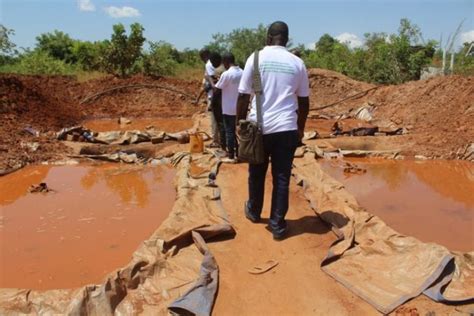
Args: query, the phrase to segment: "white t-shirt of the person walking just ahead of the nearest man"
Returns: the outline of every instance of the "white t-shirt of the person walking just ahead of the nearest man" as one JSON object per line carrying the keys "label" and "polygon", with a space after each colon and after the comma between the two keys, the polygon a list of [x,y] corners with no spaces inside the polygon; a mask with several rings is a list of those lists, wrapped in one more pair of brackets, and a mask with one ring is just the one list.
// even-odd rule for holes
{"label": "white t-shirt of the person walking just ahead of the nearest man", "polygon": [[232,66],[222,73],[216,83],[216,87],[222,90],[222,114],[235,115],[237,113],[241,77],[242,69],[239,66]]}

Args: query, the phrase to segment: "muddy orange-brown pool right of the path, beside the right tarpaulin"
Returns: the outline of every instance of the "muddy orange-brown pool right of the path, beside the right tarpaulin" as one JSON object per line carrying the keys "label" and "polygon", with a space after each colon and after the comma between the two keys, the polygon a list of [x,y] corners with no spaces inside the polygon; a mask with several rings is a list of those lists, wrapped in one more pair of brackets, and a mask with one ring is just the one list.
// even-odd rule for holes
{"label": "muddy orange-brown pool right of the path, beside the right tarpaulin", "polygon": [[366,169],[345,174],[322,161],[370,213],[396,231],[450,250],[474,250],[474,164],[464,161],[347,159]]}

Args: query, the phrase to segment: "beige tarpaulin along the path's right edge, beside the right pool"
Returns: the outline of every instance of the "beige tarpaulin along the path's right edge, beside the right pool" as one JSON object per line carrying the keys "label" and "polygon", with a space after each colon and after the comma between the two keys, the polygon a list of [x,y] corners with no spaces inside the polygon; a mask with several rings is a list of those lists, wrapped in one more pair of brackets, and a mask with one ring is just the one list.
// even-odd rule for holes
{"label": "beige tarpaulin along the path's right edge, beside the right pool", "polygon": [[360,207],[344,186],[326,175],[312,153],[295,160],[293,170],[313,210],[339,237],[322,269],[389,313],[425,293],[436,301],[474,299],[474,253],[403,236]]}

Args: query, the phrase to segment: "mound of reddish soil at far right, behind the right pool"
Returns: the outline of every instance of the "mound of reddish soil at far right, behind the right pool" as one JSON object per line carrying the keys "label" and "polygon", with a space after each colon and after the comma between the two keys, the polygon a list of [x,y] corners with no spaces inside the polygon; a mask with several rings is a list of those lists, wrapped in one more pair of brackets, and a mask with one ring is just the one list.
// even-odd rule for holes
{"label": "mound of reddish soil at far right, behind the right pool", "polygon": [[414,135],[419,153],[455,158],[474,142],[474,77],[437,77],[378,89],[376,118]]}

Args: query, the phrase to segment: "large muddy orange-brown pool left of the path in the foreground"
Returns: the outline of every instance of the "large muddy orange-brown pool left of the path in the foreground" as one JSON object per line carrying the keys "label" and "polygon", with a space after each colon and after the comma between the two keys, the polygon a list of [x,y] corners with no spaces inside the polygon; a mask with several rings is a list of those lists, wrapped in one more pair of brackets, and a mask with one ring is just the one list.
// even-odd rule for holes
{"label": "large muddy orange-brown pool left of the path in the foreground", "polygon": [[[126,265],[172,209],[175,171],[29,166],[0,178],[0,288],[73,288]],[[28,193],[46,182],[52,193]]]}

